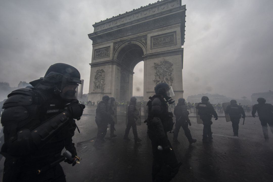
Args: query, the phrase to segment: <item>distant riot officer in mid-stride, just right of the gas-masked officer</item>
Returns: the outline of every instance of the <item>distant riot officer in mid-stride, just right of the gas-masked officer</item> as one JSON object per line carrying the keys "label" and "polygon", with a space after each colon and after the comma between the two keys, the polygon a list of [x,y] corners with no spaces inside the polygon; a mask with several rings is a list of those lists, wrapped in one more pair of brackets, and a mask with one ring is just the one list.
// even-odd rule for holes
{"label": "distant riot officer in mid-stride, just right of the gas-masked officer", "polygon": [[175,123],[175,129],[173,132],[173,141],[177,144],[180,142],[177,140],[178,133],[180,127],[183,128],[186,137],[188,138],[189,144],[195,143],[196,139],[192,139],[191,136],[191,131],[189,130],[188,126],[191,126],[191,121],[189,120],[189,112],[187,111],[186,108],[186,103],[185,99],[180,98],[178,99],[178,104],[174,108],[174,115],[176,118],[176,123]]}

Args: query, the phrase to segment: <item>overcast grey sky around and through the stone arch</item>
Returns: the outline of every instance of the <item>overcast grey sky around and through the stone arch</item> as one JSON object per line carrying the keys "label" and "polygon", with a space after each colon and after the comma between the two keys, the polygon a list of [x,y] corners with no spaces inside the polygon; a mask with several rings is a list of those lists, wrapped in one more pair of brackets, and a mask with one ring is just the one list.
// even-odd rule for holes
{"label": "overcast grey sky around and through the stone arch", "polygon": [[[51,64],[76,67],[88,93],[93,24],[147,0],[0,1],[0,81],[17,86],[43,77]],[[184,97],[219,93],[250,99],[273,90],[273,1],[182,1],[186,4]],[[143,95],[143,62],[133,95]],[[135,79],[137,78],[137,79]],[[139,89],[136,89],[139,87]]]}

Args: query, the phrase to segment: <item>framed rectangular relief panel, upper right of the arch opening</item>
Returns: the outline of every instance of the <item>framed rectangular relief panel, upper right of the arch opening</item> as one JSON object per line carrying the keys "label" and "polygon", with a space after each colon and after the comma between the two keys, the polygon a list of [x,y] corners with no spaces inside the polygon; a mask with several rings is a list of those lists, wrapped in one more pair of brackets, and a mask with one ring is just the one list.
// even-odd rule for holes
{"label": "framed rectangular relief panel, upper right of the arch opening", "polygon": [[151,49],[176,44],[176,32],[151,37]]}

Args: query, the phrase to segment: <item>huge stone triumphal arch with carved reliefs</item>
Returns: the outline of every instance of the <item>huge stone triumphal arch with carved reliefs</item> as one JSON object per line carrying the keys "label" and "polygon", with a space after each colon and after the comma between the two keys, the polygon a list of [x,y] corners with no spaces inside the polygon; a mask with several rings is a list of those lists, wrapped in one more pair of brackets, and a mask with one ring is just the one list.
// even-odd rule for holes
{"label": "huge stone triumphal arch with carved reliefs", "polygon": [[183,97],[182,68],[186,5],[162,0],[93,25],[89,100],[103,95],[129,101],[133,69],[144,61],[144,100],[157,83],[166,82]]}

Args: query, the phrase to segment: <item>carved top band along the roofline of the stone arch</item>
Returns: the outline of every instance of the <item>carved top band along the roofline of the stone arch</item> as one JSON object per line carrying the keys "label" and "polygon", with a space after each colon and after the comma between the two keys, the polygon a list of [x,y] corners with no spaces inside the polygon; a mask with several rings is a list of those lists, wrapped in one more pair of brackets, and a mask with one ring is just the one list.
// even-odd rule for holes
{"label": "carved top band along the roofline of the stone arch", "polygon": [[143,17],[167,11],[176,7],[181,7],[181,5],[181,0],[157,1],[153,4],[149,4],[144,7],[141,6],[138,9],[133,9],[132,11],[113,16],[112,18],[101,20],[100,22],[97,22],[93,25],[94,32],[107,29],[109,27],[114,27],[126,22],[131,22],[133,20],[141,19]]}

